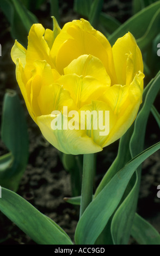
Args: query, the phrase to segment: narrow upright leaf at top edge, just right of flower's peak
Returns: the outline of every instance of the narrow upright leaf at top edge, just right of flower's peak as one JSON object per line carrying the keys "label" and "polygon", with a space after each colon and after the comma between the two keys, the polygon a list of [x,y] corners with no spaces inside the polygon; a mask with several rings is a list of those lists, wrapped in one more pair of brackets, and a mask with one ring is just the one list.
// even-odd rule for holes
{"label": "narrow upright leaf at top edge, just right of flower's peak", "polygon": [[91,5],[89,12],[89,22],[95,28],[98,27],[102,7],[103,0],[94,0],[93,4]]}

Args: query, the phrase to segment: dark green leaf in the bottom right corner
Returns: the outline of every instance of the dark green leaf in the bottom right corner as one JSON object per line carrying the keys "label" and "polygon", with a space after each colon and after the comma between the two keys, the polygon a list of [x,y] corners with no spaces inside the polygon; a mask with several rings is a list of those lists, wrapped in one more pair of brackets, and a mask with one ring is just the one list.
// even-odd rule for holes
{"label": "dark green leaf in the bottom right corner", "polygon": [[153,226],[135,214],[131,235],[140,245],[160,245],[160,235]]}

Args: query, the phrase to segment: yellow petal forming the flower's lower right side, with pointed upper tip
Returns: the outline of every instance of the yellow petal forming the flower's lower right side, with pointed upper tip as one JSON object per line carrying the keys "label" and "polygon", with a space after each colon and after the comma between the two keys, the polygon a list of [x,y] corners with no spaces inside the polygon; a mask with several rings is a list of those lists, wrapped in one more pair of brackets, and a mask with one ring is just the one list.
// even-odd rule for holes
{"label": "yellow petal forming the flower's lower right side, with pointed upper tip", "polygon": [[143,78],[144,74],[139,72],[134,77],[130,86],[122,87],[118,85],[108,89],[105,95],[106,102],[112,106],[116,122],[112,129],[110,129],[109,135],[102,147],[106,147],[119,139],[132,125],[142,99]]}

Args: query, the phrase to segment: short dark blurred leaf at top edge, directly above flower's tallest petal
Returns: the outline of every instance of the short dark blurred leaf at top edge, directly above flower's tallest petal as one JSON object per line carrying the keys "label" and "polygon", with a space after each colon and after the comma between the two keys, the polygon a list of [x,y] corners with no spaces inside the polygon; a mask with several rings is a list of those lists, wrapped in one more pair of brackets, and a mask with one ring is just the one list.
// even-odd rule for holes
{"label": "short dark blurred leaf at top edge, directly above flower's tallest petal", "polygon": [[74,0],[74,7],[73,9],[76,13],[79,13],[83,16],[89,17],[91,4],[93,3],[92,0]]}

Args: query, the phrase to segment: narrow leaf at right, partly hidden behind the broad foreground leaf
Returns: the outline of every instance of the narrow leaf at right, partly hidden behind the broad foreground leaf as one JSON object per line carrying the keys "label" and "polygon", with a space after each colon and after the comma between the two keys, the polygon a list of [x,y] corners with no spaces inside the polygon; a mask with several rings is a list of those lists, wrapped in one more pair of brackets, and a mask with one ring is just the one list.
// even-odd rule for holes
{"label": "narrow leaf at right, partly hidden behind the broad foreground leaf", "polygon": [[[160,75],[153,80],[149,88],[147,88],[147,92],[145,92],[145,101],[135,121],[134,132],[130,142],[132,157],[139,154],[140,150],[143,150],[144,148],[144,136],[147,119],[149,117],[152,102],[155,100],[158,93],[159,85]],[[118,210],[115,212],[112,220],[111,231],[113,241],[116,245],[127,244],[130,238],[132,223],[137,208],[140,186],[140,171],[141,168],[139,167],[138,171],[136,172],[135,181],[133,180],[132,190],[128,193],[124,202],[122,202]]]}

